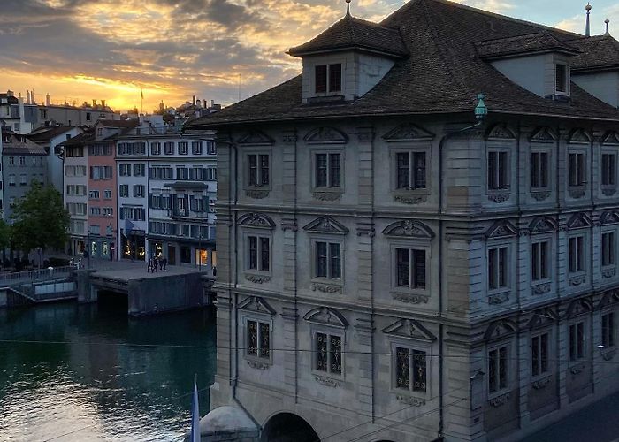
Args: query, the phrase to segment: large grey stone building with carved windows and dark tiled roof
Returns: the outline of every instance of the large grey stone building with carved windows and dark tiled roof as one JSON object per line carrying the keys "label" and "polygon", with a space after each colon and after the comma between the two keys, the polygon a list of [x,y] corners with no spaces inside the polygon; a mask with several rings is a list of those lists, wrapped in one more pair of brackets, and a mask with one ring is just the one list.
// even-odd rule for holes
{"label": "large grey stone building with carved windows and dark tiled roof", "polygon": [[411,0],[190,124],[218,130],[211,408],[264,440],[516,440],[616,391],[618,48]]}

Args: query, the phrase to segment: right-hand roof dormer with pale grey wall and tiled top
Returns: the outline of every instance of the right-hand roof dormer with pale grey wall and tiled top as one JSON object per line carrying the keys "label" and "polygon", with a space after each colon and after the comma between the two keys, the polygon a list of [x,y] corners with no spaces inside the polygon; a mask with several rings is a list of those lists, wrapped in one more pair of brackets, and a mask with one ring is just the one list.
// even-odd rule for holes
{"label": "right-hand roof dormer with pale grey wall and tiled top", "polygon": [[475,48],[479,57],[532,93],[569,98],[571,58],[580,50],[548,31],[477,42]]}

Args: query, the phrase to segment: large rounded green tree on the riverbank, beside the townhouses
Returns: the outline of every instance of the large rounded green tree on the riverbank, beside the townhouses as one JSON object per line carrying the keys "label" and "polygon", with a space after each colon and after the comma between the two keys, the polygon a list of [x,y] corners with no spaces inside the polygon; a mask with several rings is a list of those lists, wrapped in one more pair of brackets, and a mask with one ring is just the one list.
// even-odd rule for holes
{"label": "large rounded green tree on the riverbank, beside the townhouses", "polygon": [[68,240],[69,212],[54,187],[30,184],[11,215],[12,240],[23,251],[35,248],[64,249]]}

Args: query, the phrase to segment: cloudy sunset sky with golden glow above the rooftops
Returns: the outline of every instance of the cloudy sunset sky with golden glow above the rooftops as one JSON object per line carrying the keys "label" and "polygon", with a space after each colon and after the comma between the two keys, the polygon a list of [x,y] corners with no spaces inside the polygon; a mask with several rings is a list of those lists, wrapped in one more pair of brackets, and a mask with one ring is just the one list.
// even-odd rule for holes
{"label": "cloudy sunset sky with golden glow above the rooftops", "polygon": [[[583,33],[581,0],[456,0]],[[352,0],[379,21],[404,0]],[[619,35],[619,3],[591,0],[592,34]],[[0,91],[37,102],[105,99],[114,110],[177,106],[192,95],[228,105],[301,72],[286,50],[346,12],[344,0],[0,0]],[[614,30],[616,29],[616,32]]]}

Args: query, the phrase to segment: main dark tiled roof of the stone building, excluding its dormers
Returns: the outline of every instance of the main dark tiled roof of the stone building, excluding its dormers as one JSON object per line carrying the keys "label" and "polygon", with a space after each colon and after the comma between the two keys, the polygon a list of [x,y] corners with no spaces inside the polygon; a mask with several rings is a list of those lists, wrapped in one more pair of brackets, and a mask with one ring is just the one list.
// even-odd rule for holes
{"label": "main dark tiled roof of the stone building, excluding its dormers", "polygon": [[[490,112],[619,120],[619,111],[571,85],[569,101],[535,95],[508,80],[478,56],[475,42],[509,39],[544,31],[569,46],[585,37],[481,11],[447,0],[411,0],[387,17],[410,56],[395,61],[376,87],[349,102],[302,104],[301,76],[187,125],[227,124],[309,118],[472,113],[483,92]],[[579,55],[577,57],[583,57]]]}

